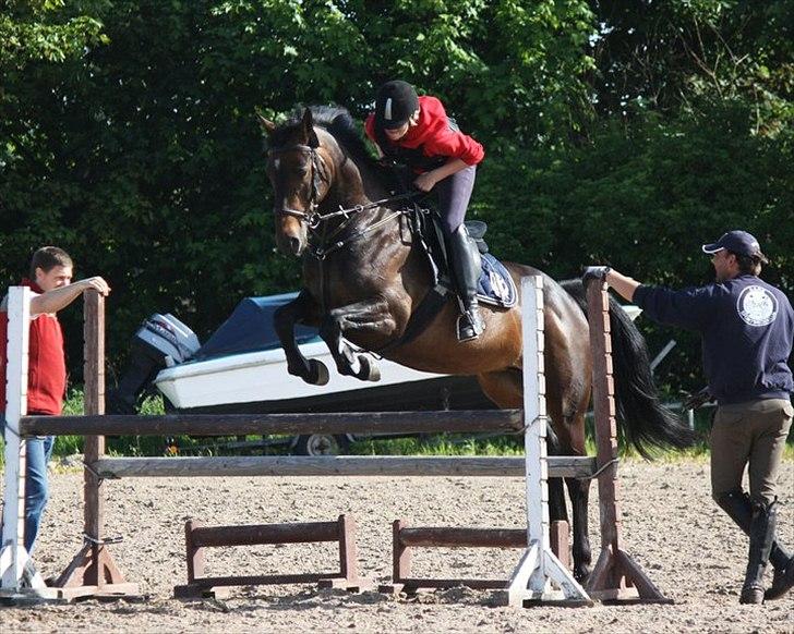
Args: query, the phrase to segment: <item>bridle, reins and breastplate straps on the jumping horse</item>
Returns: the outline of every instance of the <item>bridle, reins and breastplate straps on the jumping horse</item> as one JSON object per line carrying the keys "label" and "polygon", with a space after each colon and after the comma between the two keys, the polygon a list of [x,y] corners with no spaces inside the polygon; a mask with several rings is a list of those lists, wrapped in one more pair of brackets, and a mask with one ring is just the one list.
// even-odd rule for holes
{"label": "bridle, reins and breastplate straps on the jumping horse", "polygon": [[[323,182],[322,178],[322,167],[323,167],[323,159],[320,156],[320,153],[317,153],[317,147],[313,145],[304,145],[304,144],[296,144],[296,145],[289,145],[285,147],[279,148],[272,148],[268,150],[268,155],[270,156],[277,156],[280,154],[285,154],[288,151],[303,151],[309,153],[311,157],[311,163],[312,163],[312,190],[311,194],[309,196],[309,209],[301,210],[301,209],[290,209],[288,207],[281,207],[279,209],[274,208],[274,214],[277,216],[291,216],[293,218],[297,218],[302,223],[306,224],[310,234],[312,237],[314,237],[315,244],[310,246],[310,251],[314,257],[317,259],[325,259],[328,254],[339,251],[347,244],[359,240],[366,235],[369,232],[377,229],[378,227],[386,224],[387,222],[390,222],[394,218],[398,218],[399,216],[404,216],[408,214],[409,209],[398,209],[396,211],[393,211],[392,214],[387,215],[386,217],[382,218],[381,220],[377,220],[376,222],[373,222],[372,224],[366,225],[365,228],[348,235],[344,240],[339,240],[337,242],[330,242],[332,239],[339,235],[344,229],[347,227],[347,224],[352,220],[352,218],[362,212],[366,211],[369,209],[375,209],[377,207],[382,207],[384,205],[395,203],[398,200],[407,200],[417,198],[424,194],[424,192],[408,192],[406,194],[399,194],[397,196],[392,196],[388,198],[383,198],[381,200],[375,200],[373,203],[366,203],[365,205],[356,205],[354,207],[349,207],[347,209],[339,207],[336,211],[328,211],[327,214],[321,214],[317,211],[317,208],[320,207],[320,203],[317,202],[320,197],[320,185]],[[332,231],[330,235],[326,235],[327,228],[324,227],[325,223],[328,220],[332,220],[334,218],[338,218],[340,216],[345,217],[345,221],[340,223],[334,231]],[[322,228],[322,230],[321,230]],[[316,244],[316,243],[320,244]]]}

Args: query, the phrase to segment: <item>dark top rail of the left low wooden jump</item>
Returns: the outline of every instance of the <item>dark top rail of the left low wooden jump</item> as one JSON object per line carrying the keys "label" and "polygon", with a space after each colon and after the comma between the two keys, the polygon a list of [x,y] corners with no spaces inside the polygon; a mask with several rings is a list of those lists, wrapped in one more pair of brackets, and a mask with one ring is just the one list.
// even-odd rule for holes
{"label": "dark top rail of the left low wooden jump", "polygon": [[195,547],[339,541],[339,522],[201,526],[191,531],[191,541]]}

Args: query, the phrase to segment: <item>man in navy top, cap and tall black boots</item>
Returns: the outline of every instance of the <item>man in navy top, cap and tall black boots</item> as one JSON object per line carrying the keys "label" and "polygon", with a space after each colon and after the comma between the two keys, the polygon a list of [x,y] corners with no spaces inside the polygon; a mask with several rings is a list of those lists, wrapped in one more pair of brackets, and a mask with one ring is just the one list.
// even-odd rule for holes
{"label": "man in navy top, cap and tall black boots", "polygon": [[[610,267],[588,267],[584,280],[603,279],[651,319],[700,332],[709,393],[718,409],[711,429],[711,490],[717,503],[749,535],[739,601],[761,603],[794,586],[794,556],[775,539],[775,481],[792,425],[794,391],[787,365],[794,339],[789,298],[758,276],[768,260],[746,231],[730,231],[702,251],[715,281],[672,291],[640,284]],[[749,495],[742,489],[745,466]],[[763,592],[771,561],[772,585]]]}

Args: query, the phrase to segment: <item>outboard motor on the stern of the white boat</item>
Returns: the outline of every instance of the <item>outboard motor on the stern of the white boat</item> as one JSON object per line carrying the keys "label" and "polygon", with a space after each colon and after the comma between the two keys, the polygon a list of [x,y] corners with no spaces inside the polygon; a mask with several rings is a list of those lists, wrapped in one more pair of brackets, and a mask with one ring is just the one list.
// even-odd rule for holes
{"label": "outboard motor on the stern of the white boat", "polygon": [[201,348],[195,333],[170,313],[155,313],[132,338],[130,367],[108,391],[108,414],[134,414],[141,394],[163,368],[184,363]]}

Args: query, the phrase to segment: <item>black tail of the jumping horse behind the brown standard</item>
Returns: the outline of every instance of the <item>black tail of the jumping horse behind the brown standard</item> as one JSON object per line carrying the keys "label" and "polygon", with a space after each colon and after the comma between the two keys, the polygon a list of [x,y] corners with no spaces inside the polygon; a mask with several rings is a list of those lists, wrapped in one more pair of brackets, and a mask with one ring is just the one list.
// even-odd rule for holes
{"label": "black tail of the jumping horse behind the brown standard", "polygon": [[[587,298],[581,280],[561,282],[587,315]],[[622,434],[639,453],[650,458],[649,448],[690,447],[695,434],[662,405],[653,382],[648,346],[621,305],[610,296],[612,362],[615,373],[615,401]]]}

